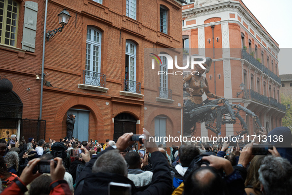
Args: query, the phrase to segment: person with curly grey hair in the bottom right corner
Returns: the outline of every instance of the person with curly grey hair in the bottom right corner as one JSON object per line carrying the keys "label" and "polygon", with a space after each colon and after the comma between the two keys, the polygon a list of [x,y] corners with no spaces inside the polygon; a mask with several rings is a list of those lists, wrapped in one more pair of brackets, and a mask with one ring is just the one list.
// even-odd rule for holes
{"label": "person with curly grey hair in the bottom right corner", "polygon": [[263,195],[292,195],[292,165],[287,159],[266,156],[258,173]]}

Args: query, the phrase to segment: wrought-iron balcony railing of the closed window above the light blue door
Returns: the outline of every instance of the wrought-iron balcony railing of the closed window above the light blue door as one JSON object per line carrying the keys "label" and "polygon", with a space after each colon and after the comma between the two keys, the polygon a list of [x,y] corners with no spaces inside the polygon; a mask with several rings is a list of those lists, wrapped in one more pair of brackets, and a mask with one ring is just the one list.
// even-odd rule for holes
{"label": "wrought-iron balcony railing of the closed window above the light blue door", "polygon": [[83,78],[83,84],[85,85],[93,85],[105,88],[105,74],[83,70]]}

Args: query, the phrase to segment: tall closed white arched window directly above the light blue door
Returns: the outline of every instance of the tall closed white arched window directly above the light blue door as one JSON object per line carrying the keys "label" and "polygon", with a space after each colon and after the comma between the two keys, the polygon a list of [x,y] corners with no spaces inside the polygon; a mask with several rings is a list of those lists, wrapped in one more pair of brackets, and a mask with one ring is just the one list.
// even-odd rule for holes
{"label": "tall closed white arched window directly above the light blue door", "polygon": [[[101,32],[93,27],[87,27],[85,83],[92,83],[100,77]],[[96,82],[99,83],[99,82]],[[97,84],[98,85],[98,84]]]}

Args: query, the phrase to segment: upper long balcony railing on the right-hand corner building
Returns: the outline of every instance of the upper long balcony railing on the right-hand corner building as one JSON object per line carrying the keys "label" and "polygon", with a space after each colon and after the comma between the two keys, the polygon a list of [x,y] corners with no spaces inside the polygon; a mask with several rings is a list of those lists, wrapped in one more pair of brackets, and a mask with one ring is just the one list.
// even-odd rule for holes
{"label": "upper long balcony railing on the right-hand corner building", "polygon": [[250,53],[248,53],[246,50],[241,50],[242,58],[250,62],[253,66],[255,66],[257,69],[274,79],[277,83],[281,85],[281,79],[276,74],[274,74],[272,71],[270,71],[267,67],[262,65],[259,61],[257,61]]}

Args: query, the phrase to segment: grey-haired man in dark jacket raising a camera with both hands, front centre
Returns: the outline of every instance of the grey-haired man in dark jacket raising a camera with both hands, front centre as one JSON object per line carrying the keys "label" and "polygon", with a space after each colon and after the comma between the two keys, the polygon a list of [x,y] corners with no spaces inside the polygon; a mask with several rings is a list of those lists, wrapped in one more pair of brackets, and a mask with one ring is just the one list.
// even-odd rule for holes
{"label": "grey-haired man in dark jacket raising a camera with both hands, front centre", "polygon": [[[127,146],[132,145],[133,142],[130,141],[132,135],[132,133],[126,133],[121,136],[116,144],[117,150],[124,151]],[[98,192],[99,195],[108,195],[108,184],[110,182],[130,184],[132,195],[171,194],[172,184],[167,159],[158,150],[155,143],[149,143],[149,133],[146,130],[144,130],[144,144],[151,153],[153,160],[153,176],[151,184],[143,191],[137,189],[133,182],[126,177],[125,159],[119,155],[119,151],[115,151],[115,148],[110,146],[86,163],[74,194],[88,195]]]}

